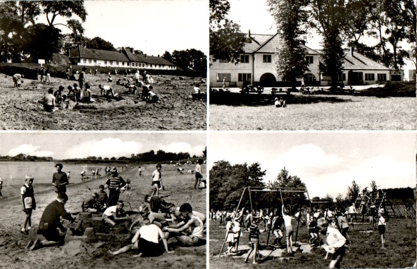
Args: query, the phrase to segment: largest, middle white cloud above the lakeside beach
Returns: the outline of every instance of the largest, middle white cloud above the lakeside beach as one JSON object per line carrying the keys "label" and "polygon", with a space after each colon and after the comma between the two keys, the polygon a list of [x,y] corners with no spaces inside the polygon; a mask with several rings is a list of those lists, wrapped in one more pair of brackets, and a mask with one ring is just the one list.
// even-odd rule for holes
{"label": "largest, middle white cloud above the lakeside beach", "polygon": [[136,141],[122,141],[120,138],[103,138],[99,141],[85,141],[68,148],[62,157],[57,158],[85,158],[96,157],[130,157],[132,153],[138,153],[143,145]]}

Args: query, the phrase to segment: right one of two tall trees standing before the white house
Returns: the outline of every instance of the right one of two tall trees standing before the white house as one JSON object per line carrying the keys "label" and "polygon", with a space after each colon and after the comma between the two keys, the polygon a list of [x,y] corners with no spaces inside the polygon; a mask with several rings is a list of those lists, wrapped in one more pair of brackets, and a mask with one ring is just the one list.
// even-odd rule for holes
{"label": "right one of two tall trees standing before the white house", "polygon": [[312,0],[310,25],[323,37],[321,54],[324,73],[331,77],[331,89],[337,89],[339,73],[342,71],[344,51],[343,29],[345,0]]}

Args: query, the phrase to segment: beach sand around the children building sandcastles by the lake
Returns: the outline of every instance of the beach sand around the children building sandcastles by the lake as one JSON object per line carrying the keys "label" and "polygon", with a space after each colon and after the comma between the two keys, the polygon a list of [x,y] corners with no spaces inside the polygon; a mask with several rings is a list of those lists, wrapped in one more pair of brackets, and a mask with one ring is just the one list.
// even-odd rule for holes
{"label": "beach sand around the children building sandcastles by the lake", "polygon": [[[133,167],[133,169],[132,169]],[[186,169],[194,170],[195,166]],[[128,165],[128,169],[121,172],[123,179],[131,180],[131,190],[120,195],[125,201],[125,210],[137,210],[143,201],[145,194],[151,192],[152,172],[154,165],[142,165],[142,177],[139,178],[137,165]],[[178,174],[174,165],[162,165],[162,180],[166,188],[160,195],[166,201],[180,206],[189,202],[193,210],[206,212],[206,190],[194,190],[193,174]],[[205,175],[206,165],[202,166]],[[100,184],[104,184],[106,178],[93,179],[83,183],[74,182],[67,186],[69,200],[65,205],[68,212],[79,212],[84,197],[98,191]],[[89,190],[90,188],[91,190]],[[55,193],[51,188],[42,194],[37,194],[37,186],[34,185],[37,209],[32,214],[32,226],[37,226],[45,207],[55,199]],[[130,203],[130,206],[129,206]],[[74,255],[67,251],[67,247],[42,248],[35,251],[26,250],[28,236],[20,233],[20,225],[24,220],[21,210],[21,202],[18,190],[15,197],[0,200],[0,261],[1,266],[10,268],[99,268],[105,264],[106,268],[205,268],[206,245],[199,247],[180,247],[175,239],[168,240],[168,247],[175,254],[163,253],[159,257],[134,258],[133,252],[112,256],[107,253],[120,248],[129,242],[128,234],[114,234],[115,241],[102,240],[99,243],[79,246],[79,251]],[[75,242],[74,244],[77,244]],[[78,249],[78,245],[76,250]],[[73,254],[73,255],[71,255]],[[75,256],[75,257],[74,257]]]}

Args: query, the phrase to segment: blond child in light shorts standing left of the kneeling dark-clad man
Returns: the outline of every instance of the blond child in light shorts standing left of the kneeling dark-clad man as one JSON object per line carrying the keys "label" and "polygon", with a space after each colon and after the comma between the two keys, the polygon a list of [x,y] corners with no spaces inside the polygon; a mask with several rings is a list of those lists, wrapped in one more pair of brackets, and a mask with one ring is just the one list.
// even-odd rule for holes
{"label": "blond child in light shorts standing left of the kneeling dark-clad man", "polygon": [[[31,175],[26,175],[25,184],[20,188],[20,194],[22,195],[22,210],[26,214],[25,221],[23,222],[20,232],[24,234],[28,234],[30,229],[32,229],[32,223],[30,218],[32,216],[32,210],[36,209],[36,202],[32,183],[33,177]],[[27,229],[26,225],[28,225]]]}

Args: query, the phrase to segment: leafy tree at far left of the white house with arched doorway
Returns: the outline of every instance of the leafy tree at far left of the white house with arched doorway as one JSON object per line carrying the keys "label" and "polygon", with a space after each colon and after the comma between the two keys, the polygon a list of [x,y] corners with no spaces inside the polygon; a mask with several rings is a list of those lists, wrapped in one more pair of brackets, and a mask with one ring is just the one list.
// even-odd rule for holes
{"label": "leafy tree at far left of the white house with arched doorway", "polygon": [[228,60],[236,64],[240,54],[244,52],[243,46],[248,41],[246,35],[240,31],[240,25],[226,18],[230,10],[227,0],[210,0],[210,29],[209,49],[213,60]]}

